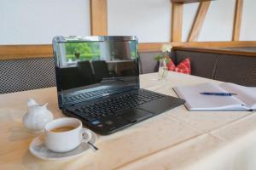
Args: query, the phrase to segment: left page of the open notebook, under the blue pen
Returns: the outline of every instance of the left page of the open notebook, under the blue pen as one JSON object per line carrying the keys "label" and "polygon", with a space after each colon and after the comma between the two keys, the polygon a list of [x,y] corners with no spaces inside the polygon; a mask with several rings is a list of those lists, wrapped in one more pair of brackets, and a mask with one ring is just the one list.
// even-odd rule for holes
{"label": "left page of the open notebook, under the blue pen", "polygon": [[202,95],[202,92],[227,93],[223,88],[219,88],[214,83],[201,83],[194,86],[177,87],[177,94],[186,100],[186,105],[190,110],[232,110],[247,109],[240,99],[234,96]]}

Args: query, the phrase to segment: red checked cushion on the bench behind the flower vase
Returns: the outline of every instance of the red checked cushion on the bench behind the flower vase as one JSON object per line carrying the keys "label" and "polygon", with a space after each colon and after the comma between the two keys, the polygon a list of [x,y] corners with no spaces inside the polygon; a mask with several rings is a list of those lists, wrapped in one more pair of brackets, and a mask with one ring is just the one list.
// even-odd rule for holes
{"label": "red checked cushion on the bench behind the flower vase", "polygon": [[177,66],[174,65],[172,59],[169,59],[169,63],[167,64],[168,71],[176,71],[184,74],[191,74],[190,68],[190,59],[184,59]]}

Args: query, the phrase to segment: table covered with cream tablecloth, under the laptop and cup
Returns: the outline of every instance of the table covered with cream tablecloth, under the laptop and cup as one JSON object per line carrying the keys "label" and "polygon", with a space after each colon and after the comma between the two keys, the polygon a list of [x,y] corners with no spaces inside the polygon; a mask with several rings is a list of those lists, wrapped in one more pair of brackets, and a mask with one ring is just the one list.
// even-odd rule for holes
{"label": "table covered with cream tablecloth, under the laptop and cup", "polygon": [[[142,88],[172,96],[177,96],[174,86],[219,83],[176,72],[170,72],[166,81],[158,81],[156,73],[140,78]],[[28,150],[38,133],[23,127],[22,116],[29,98],[40,104],[49,103],[55,118],[63,116],[56,96],[56,88],[0,95],[0,169],[229,169],[230,164],[224,165],[229,156],[223,153],[235,155],[233,149],[245,146],[243,141],[256,139],[255,112],[190,112],[181,105],[117,133],[97,135],[96,146],[100,150],[96,152],[88,150],[67,161],[44,161]]]}

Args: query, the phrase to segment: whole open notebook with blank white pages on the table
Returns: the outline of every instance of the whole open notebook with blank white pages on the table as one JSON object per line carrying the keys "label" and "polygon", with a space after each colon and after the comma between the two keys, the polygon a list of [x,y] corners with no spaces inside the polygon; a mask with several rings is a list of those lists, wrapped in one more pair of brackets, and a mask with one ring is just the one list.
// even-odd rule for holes
{"label": "whole open notebook with blank white pages on the table", "polygon": [[[189,111],[253,111],[256,110],[256,88],[234,83],[211,82],[173,88]],[[232,93],[232,96],[202,95],[202,92]]]}

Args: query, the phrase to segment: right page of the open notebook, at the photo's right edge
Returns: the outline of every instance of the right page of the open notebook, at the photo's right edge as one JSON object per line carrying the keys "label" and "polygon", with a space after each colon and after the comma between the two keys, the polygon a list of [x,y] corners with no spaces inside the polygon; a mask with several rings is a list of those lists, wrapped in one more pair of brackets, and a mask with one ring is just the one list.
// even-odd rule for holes
{"label": "right page of the open notebook, at the photo's right edge", "polygon": [[224,82],[219,87],[224,88],[230,93],[238,94],[236,95],[238,99],[241,99],[251,109],[256,110],[256,88],[245,87],[230,82]]}

